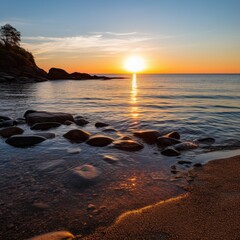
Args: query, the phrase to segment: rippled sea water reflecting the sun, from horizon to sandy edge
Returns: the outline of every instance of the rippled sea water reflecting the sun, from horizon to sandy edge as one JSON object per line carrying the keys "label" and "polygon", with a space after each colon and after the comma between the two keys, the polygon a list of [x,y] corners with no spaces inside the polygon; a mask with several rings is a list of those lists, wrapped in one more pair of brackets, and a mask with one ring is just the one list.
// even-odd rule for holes
{"label": "rippled sea water reflecting the sun, from horizon to sandy edge", "polygon": [[[184,173],[192,165],[178,165],[179,160],[203,163],[208,160],[206,154],[209,152],[211,159],[226,153],[239,153],[240,75],[127,77],[107,81],[0,84],[0,115],[22,117],[28,109],[61,111],[81,115],[90,122],[83,128],[71,125],[49,130],[57,134],[55,139],[25,149],[8,146],[4,139],[0,139],[1,201],[8,202],[9,194],[15,199],[14,203],[9,201],[3,205],[6,207],[1,213],[4,216],[12,214],[12,218],[3,217],[0,230],[5,231],[6,222],[14,221],[20,230],[26,229],[24,223],[34,222],[37,218],[36,227],[34,224],[32,228],[28,227],[30,233],[41,232],[38,223],[45,224],[47,230],[67,228],[77,233],[91,232],[99,222],[110,224],[124,210],[182,192],[181,184],[185,179],[175,178],[171,166],[175,165]],[[155,129],[162,134],[178,131],[183,141],[213,137],[216,142],[184,151],[179,157],[166,157],[161,155],[157,146],[146,143],[143,150],[130,153],[111,146],[97,148],[84,143],[72,144],[62,137],[74,128],[82,128],[91,134],[103,133],[102,129],[95,128],[97,121],[116,129],[116,133],[104,133],[115,139],[123,135],[132,137],[134,130]],[[21,127],[25,133],[31,133],[26,125]],[[72,154],[74,150],[78,153]],[[231,153],[233,150],[235,152]],[[109,164],[103,160],[104,155],[117,157],[119,161]],[[90,186],[76,188],[72,185],[71,171],[83,164],[97,167],[100,178]],[[51,211],[47,211],[44,217],[35,212],[34,217],[26,215],[32,211],[29,205],[36,199],[51,206]],[[10,203],[12,205],[8,206]],[[89,203],[108,206],[108,210],[90,218],[91,214],[86,210]],[[53,213],[55,216],[63,214],[59,208],[67,209],[70,214],[66,216],[64,213],[65,220],[55,223]],[[20,217],[23,223],[16,222]],[[74,222],[73,218],[81,220]],[[24,236],[31,237],[27,233]]]}

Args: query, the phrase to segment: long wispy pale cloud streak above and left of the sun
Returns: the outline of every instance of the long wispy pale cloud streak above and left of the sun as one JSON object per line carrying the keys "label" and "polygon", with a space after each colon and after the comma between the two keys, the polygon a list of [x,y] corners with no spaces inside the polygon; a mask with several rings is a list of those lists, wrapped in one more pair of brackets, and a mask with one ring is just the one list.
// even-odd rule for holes
{"label": "long wispy pale cloud streak above and left of the sun", "polygon": [[[125,35],[123,35],[125,34]],[[110,35],[110,34],[109,34]],[[123,37],[124,36],[124,37]],[[22,37],[24,48],[29,49],[41,58],[51,57],[56,53],[79,54],[91,52],[98,54],[117,54],[132,51],[137,48],[148,48],[148,42],[153,40],[150,36],[138,36],[135,33],[112,34],[106,37],[103,34],[82,35],[74,37]]]}

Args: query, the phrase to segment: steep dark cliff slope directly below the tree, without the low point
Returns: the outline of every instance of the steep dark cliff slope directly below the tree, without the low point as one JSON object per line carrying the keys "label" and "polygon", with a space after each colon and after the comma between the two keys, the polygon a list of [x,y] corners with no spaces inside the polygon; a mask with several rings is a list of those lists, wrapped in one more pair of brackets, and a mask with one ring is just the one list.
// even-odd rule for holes
{"label": "steep dark cliff slope directly below the tree, without the low point", "polygon": [[15,78],[47,78],[47,73],[36,65],[33,55],[18,46],[0,45],[0,72]]}

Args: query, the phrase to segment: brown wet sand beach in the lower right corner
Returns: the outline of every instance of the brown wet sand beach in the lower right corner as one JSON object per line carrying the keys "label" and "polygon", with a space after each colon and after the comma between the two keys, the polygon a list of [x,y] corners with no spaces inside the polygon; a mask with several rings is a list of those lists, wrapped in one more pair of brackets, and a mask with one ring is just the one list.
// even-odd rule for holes
{"label": "brown wet sand beach in the lower right corner", "polygon": [[240,239],[240,155],[195,173],[188,193],[129,211],[84,239]]}

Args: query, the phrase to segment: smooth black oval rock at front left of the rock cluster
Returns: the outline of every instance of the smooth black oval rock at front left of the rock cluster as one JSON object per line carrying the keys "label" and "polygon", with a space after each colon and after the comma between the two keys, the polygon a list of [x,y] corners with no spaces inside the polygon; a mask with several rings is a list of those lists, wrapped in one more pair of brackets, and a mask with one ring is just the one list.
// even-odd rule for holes
{"label": "smooth black oval rock at front left of the rock cluster", "polygon": [[45,141],[46,138],[37,135],[14,135],[6,143],[14,147],[29,147]]}

